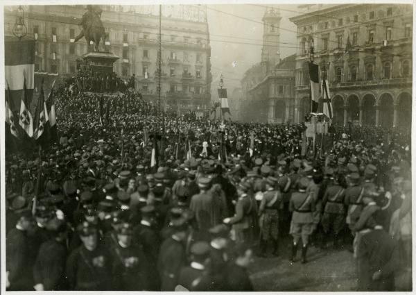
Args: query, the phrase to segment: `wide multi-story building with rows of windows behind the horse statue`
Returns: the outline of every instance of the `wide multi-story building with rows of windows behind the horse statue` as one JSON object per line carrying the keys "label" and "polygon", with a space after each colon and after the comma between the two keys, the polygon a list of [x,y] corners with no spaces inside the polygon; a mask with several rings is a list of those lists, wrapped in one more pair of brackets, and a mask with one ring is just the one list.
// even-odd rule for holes
{"label": "wide multi-story building with rows of windows behind the horse statue", "polygon": [[[35,71],[76,73],[76,60],[87,53],[80,33],[86,6],[24,6],[28,37],[35,38]],[[101,6],[106,51],[119,60],[114,71],[136,77],[145,99],[157,99],[159,6]],[[5,7],[5,33],[12,35],[16,6]],[[205,6],[162,6],[161,93],[166,108],[205,110],[211,99],[211,47]]]}

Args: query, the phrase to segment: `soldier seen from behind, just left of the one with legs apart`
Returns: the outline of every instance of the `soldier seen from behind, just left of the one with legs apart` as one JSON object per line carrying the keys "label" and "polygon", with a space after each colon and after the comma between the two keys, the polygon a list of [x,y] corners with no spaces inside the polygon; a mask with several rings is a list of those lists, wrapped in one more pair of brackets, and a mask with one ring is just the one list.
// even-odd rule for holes
{"label": "soldier seen from behind, just left of the one with legs apart", "polygon": [[260,216],[260,255],[266,256],[268,241],[272,241],[273,255],[278,255],[279,238],[279,209],[281,208],[282,195],[277,187],[277,178],[269,176],[266,182],[266,192],[263,195],[259,207]]}

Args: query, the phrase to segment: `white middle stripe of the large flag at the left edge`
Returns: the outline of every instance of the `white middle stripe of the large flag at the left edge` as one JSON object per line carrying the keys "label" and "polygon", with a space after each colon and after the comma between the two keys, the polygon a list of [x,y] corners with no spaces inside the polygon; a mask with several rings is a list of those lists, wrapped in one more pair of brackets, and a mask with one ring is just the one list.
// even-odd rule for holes
{"label": "white middle stripe of the large flag at the left edge", "polygon": [[10,90],[23,89],[26,80],[26,88],[33,89],[35,81],[33,73],[35,65],[6,65],[4,67],[4,76],[6,77]]}

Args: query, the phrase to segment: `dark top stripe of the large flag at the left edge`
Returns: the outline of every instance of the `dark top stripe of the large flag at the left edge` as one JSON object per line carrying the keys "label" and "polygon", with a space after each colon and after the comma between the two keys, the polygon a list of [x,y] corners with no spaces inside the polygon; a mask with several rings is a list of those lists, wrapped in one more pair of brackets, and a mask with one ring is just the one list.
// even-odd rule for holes
{"label": "dark top stripe of the large flag at the left edge", "polygon": [[35,63],[35,40],[6,40],[4,65],[32,65]]}

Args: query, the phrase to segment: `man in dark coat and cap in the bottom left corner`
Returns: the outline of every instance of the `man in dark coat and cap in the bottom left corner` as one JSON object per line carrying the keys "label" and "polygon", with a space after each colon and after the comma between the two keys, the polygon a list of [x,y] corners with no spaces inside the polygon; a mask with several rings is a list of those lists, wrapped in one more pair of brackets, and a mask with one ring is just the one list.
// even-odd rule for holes
{"label": "man in dark coat and cap in the bottom left corner", "polygon": [[19,215],[16,227],[6,237],[6,289],[33,291],[33,251],[27,233],[35,221],[30,210]]}

